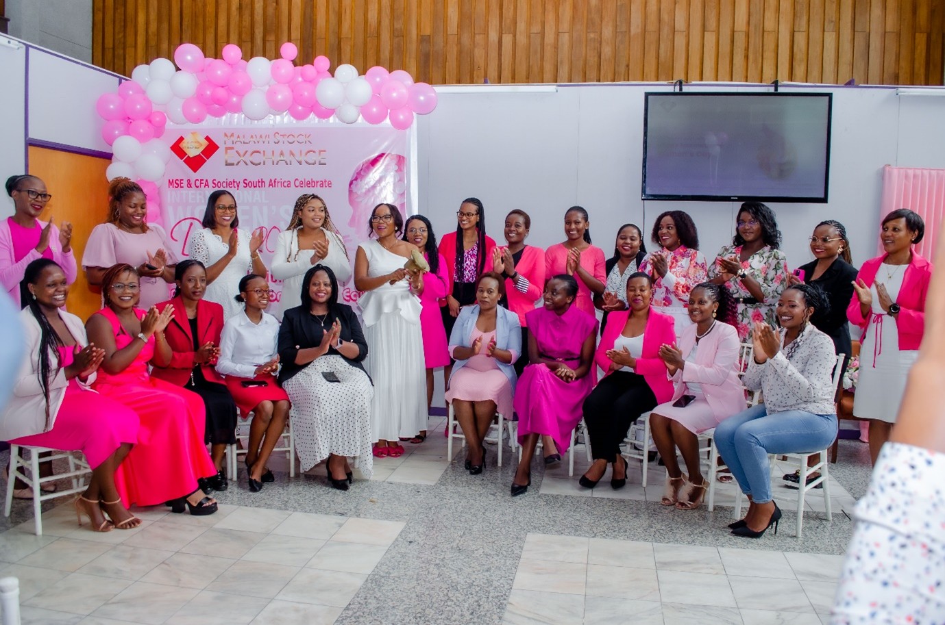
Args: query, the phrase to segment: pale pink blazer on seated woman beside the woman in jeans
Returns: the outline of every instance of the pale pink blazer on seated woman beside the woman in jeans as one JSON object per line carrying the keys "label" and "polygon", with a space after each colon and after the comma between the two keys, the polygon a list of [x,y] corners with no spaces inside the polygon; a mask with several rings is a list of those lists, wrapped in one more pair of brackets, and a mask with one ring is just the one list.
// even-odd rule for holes
{"label": "pale pink blazer on seated woman beside the woman in jeans", "polygon": [[[696,324],[686,326],[679,337],[683,360],[696,346]],[[685,393],[684,382],[702,384],[702,394],[719,421],[745,410],[745,389],[738,379],[738,330],[721,321],[699,340],[696,361],[686,363],[672,380],[676,383],[672,401]]]}

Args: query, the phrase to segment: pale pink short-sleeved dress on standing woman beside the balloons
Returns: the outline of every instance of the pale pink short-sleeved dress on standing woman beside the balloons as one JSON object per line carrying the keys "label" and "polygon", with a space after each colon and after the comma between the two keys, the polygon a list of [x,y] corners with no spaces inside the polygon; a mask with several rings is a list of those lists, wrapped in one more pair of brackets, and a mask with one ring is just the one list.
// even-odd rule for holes
{"label": "pale pink short-sleeved dress on standing woman beside the balloons", "polygon": [[[137,267],[147,262],[148,252],[153,256],[159,249],[167,253],[167,264],[177,264],[172,245],[164,229],[154,224],[149,225],[143,234],[126,232],[114,224],[99,224],[92,228],[89,242],[85,245],[82,268],[108,269],[119,262]],[[141,299],[138,302],[141,308],[147,310],[170,297],[170,285],[163,279],[142,277]]]}

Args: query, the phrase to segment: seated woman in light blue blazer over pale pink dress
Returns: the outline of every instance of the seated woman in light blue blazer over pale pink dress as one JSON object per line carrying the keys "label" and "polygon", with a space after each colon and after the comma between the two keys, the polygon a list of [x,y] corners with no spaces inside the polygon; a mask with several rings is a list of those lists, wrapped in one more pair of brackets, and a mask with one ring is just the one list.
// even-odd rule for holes
{"label": "seated woman in light blue blazer over pale pink dress", "polygon": [[483,274],[476,285],[476,304],[459,310],[450,337],[450,356],[456,363],[446,401],[469,444],[470,475],[482,473],[486,464],[482,441],[496,412],[512,416],[517,380],[512,363],[522,352],[522,329],[519,316],[498,305],[506,295],[505,282],[495,272]]}

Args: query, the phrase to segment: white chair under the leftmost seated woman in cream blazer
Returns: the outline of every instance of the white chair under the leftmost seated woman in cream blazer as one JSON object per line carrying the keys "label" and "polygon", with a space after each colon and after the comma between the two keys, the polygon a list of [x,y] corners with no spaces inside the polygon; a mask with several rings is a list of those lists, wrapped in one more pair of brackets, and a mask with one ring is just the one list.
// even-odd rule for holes
{"label": "white chair under the leftmost seated woman in cream blazer", "polygon": [[[20,457],[20,450],[29,452],[29,460]],[[43,458],[43,462],[52,462],[66,458],[69,460],[69,470],[66,473],[57,473],[46,478],[40,477],[40,454],[50,452],[50,455]],[[36,535],[43,535],[43,516],[40,505],[46,499],[65,497],[66,495],[76,495],[85,492],[85,476],[91,475],[92,468],[86,462],[84,457],[77,457],[78,451],[60,451],[59,449],[26,447],[19,445],[9,446],[9,478],[7,479],[7,506],[4,509],[4,515],[9,516],[13,505],[13,484],[16,479],[26,482],[26,485],[33,489],[33,526],[36,528]],[[27,465],[28,463],[28,465]],[[27,475],[28,471],[28,475]],[[55,493],[43,493],[42,486],[48,481],[72,480],[72,488],[59,489]]]}

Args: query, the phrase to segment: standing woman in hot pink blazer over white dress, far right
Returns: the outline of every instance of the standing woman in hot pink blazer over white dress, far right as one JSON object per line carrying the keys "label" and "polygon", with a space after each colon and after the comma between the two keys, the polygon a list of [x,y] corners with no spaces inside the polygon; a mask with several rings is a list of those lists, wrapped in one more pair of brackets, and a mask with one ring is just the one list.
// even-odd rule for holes
{"label": "standing woman in hot pink blazer over white dress, far right", "polygon": [[863,263],[847,308],[851,323],[863,329],[853,415],[869,419],[873,465],[889,440],[905,380],[919,357],[932,263],[912,245],[924,234],[925,224],[916,212],[900,209],[887,214],[880,235],[884,253]]}

